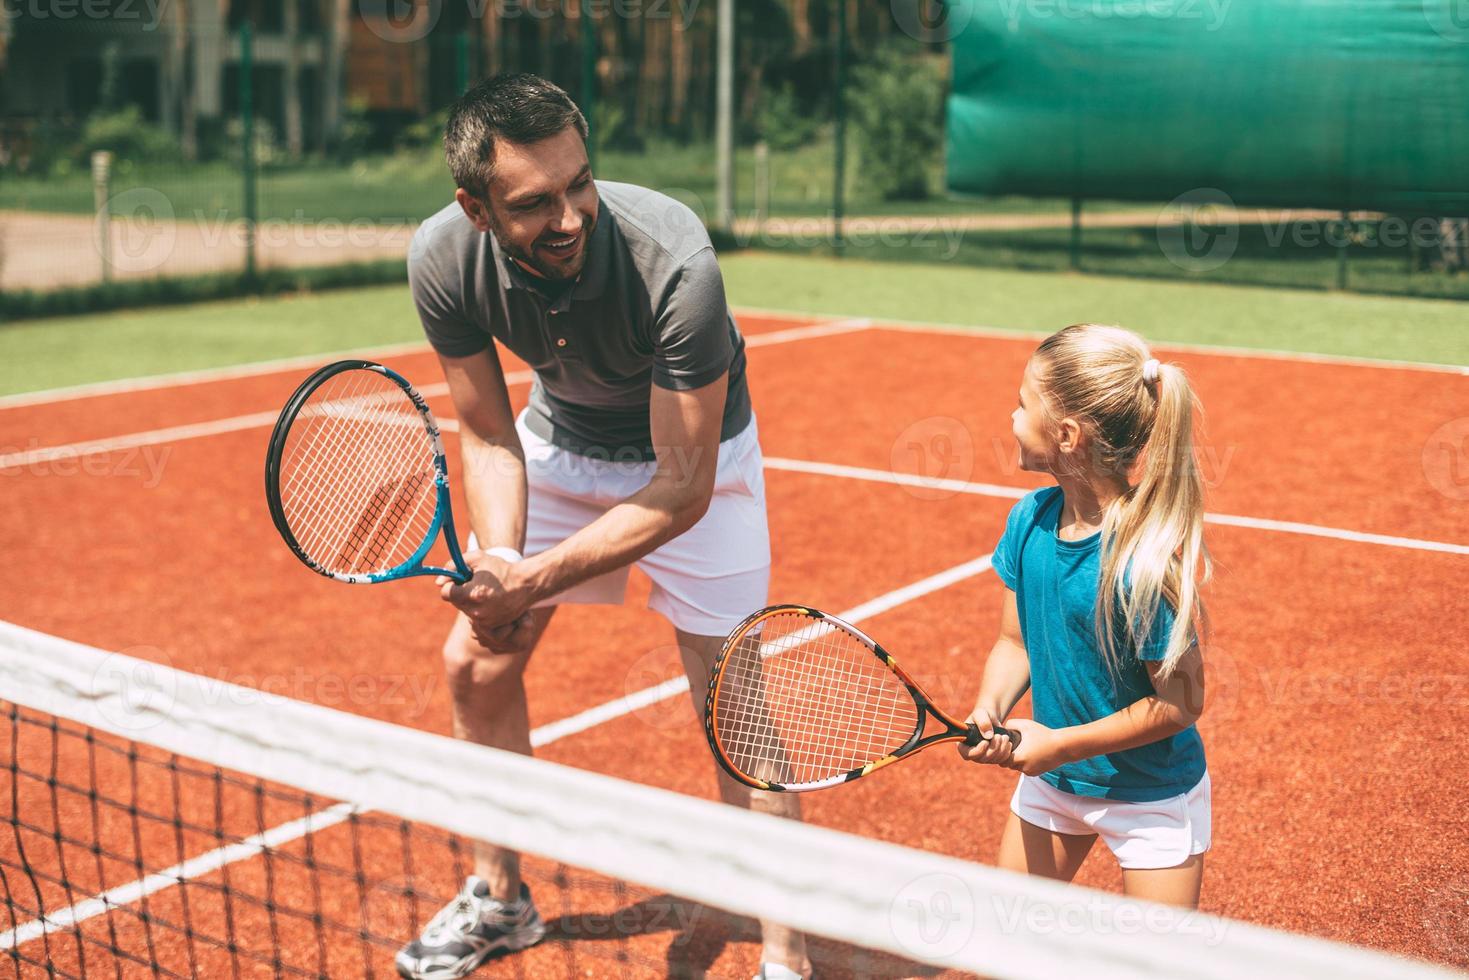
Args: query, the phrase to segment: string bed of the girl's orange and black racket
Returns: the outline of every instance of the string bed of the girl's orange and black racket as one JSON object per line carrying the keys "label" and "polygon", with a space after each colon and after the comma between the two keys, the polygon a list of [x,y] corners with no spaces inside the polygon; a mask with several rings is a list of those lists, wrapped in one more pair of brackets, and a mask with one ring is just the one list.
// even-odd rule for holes
{"label": "string bed of the girl's orange and black racket", "polygon": [[782,785],[861,768],[921,726],[908,688],[867,644],[799,613],[762,620],[734,644],[715,718],[734,767]]}

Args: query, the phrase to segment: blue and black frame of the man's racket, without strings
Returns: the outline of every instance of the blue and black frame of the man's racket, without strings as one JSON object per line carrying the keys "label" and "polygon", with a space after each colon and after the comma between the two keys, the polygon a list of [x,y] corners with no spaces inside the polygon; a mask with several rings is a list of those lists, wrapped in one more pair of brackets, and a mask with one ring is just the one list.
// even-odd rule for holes
{"label": "blue and black frame of the man's racket, without strings", "polygon": [[[394,566],[392,569],[385,569],[382,572],[351,574],[345,572],[332,572],[323,567],[319,561],[311,558],[297,541],[295,533],[291,530],[289,522],[285,517],[285,507],[281,502],[281,461],[285,453],[286,438],[291,432],[291,425],[295,422],[297,414],[311,398],[317,388],[325,385],[332,378],[342,375],[350,370],[370,370],[383,378],[389,379],[408,397],[413,407],[417,408],[419,417],[423,420],[423,428],[429,433],[429,439],[433,445],[433,467],[435,467],[435,494],[436,501],[433,507],[433,520],[429,525],[427,532],[423,535],[423,541],[419,544],[417,550],[403,563]],[[291,398],[285,403],[281,410],[281,417],[276,419],[275,428],[270,430],[270,448],[266,451],[266,502],[270,507],[270,520],[275,523],[276,530],[285,539],[286,545],[295,554],[301,563],[319,574],[325,574],[329,579],[336,579],[338,582],[348,582],[351,585],[373,585],[376,582],[391,582],[394,579],[410,579],[419,574],[432,576],[448,576],[455,582],[469,582],[473,574],[469,566],[464,563],[464,554],[458,545],[458,535],[454,530],[454,510],[450,502],[450,466],[448,458],[444,454],[444,439],[439,435],[439,423],[433,419],[433,413],[429,411],[429,403],[425,401],[423,395],[413,383],[392,370],[376,361],[370,360],[339,360],[325,367],[313,372],[301,385],[295,389]],[[423,560],[427,557],[429,550],[433,548],[433,541],[444,533],[445,544],[450,550],[450,558],[454,561],[452,569],[439,569],[435,566],[425,566]]]}

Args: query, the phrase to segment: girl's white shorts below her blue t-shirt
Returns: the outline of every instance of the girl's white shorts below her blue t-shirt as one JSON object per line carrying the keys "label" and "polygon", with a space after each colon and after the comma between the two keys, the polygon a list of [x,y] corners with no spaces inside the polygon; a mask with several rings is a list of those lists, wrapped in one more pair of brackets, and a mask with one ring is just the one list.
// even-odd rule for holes
{"label": "girl's white shorts below her blue t-shirt", "polygon": [[1053,833],[1097,835],[1124,868],[1175,868],[1210,843],[1209,773],[1187,793],[1146,804],[1078,796],[1021,776],[1011,810]]}

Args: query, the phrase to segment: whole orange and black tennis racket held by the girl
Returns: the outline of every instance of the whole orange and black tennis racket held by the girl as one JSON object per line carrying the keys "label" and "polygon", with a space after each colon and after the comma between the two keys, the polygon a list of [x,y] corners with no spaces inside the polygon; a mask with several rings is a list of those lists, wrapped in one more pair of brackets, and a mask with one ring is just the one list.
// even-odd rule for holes
{"label": "whole orange and black tennis racket held by the girl", "polygon": [[[930,718],[943,729],[924,735]],[[867,633],[805,605],[773,605],[734,627],[714,661],[704,730],[730,776],[798,793],[984,738],[934,707]],[[1019,745],[1017,732],[995,733]]]}

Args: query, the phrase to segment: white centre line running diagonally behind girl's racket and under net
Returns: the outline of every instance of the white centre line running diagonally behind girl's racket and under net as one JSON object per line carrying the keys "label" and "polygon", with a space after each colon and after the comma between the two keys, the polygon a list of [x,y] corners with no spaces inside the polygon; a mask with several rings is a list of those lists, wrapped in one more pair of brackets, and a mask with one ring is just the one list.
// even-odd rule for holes
{"label": "white centre line running diagonally behind girl's racket and under net", "polygon": [[[911,602],[923,595],[928,595],[930,592],[936,592],[956,582],[962,582],[964,579],[981,574],[989,569],[990,555],[983,555],[980,558],[953,566],[952,569],[946,569],[937,574],[931,574],[927,579],[914,582],[912,585],[905,585],[900,589],[893,589],[892,592],[878,595],[877,598],[868,599],[861,605],[853,605],[845,613],[839,613],[839,617],[856,624],[865,619],[871,619],[873,616],[896,608],[903,602]],[[679,696],[687,692],[687,677],[677,677],[651,688],[643,688],[642,691],[596,705],[595,708],[589,708],[588,711],[582,711],[580,714],[574,714],[569,718],[542,724],[530,732],[530,745],[551,745],[552,742],[577,735],[579,732],[586,732],[598,724],[632,714],[639,708]],[[291,840],[304,837],[311,832],[325,830],[326,827],[347,820],[354,811],[355,807],[350,802],[336,804],[314,814],[308,814],[300,820],[292,820],[281,824],[279,827],[272,827],[270,830],[247,837],[239,843],[207,851],[198,857],[190,858],[188,861],[182,861],[173,867],[138,879],[137,882],[129,882],[128,884],[109,889],[101,895],[50,912],[44,918],[34,918],[7,933],[0,933],[0,949],[13,949],[21,943],[31,942],[32,939],[38,939],[47,933],[71,929],[88,918],[106,914],[113,905],[135,902],[140,898],[153,895],[154,892],[160,892],[166,887],[182,884],[190,877],[207,874],[226,864],[253,858],[267,846],[276,848],[284,843],[289,843]]]}

